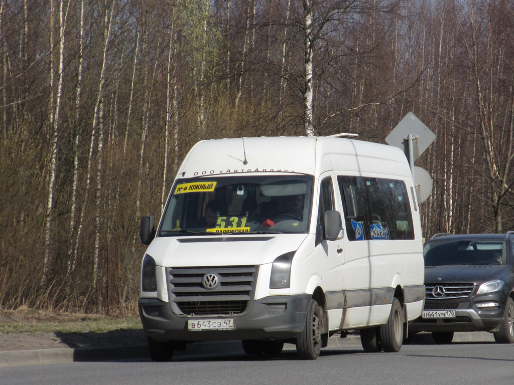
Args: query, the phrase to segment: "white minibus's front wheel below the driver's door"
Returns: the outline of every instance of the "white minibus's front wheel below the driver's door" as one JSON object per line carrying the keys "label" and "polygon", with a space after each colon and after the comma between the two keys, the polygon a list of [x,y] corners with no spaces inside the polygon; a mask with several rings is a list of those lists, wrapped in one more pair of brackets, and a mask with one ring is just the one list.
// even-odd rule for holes
{"label": "white minibus's front wheel below the driver's door", "polygon": [[321,350],[321,325],[323,308],[314,299],[310,300],[303,331],[296,337],[296,350],[302,359],[315,360]]}

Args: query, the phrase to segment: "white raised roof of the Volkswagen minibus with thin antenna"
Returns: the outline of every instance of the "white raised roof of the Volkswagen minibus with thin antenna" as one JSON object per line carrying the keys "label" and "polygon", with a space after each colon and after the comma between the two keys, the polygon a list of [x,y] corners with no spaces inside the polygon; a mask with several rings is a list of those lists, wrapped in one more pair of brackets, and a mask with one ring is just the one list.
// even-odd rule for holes
{"label": "white raised roof of the Volkswagen minibus with thin antenna", "polygon": [[337,137],[203,140],[191,148],[177,174],[182,178],[248,172],[315,175],[331,169],[347,171],[348,175],[411,176],[407,158],[399,148]]}

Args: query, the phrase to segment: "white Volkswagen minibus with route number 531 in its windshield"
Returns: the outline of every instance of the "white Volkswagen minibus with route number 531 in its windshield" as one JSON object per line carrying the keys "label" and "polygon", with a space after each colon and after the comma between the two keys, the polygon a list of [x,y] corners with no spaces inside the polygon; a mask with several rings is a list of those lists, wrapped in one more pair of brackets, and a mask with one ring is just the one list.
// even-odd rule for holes
{"label": "white Volkswagen minibus with route number 531 in its windshield", "polygon": [[335,333],[397,352],[423,310],[419,208],[406,156],[339,137],[200,141],[178,169],[141,264],[150,355],[241,340],[316,359]]}

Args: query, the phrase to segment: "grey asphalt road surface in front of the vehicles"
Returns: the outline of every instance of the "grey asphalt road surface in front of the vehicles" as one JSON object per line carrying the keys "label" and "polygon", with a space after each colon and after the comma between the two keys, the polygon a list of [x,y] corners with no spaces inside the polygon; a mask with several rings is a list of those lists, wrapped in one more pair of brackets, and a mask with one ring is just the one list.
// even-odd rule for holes
{"label": "grey asphalt road surface in front of the vehicles", "polygon": [[364,353],[358,337],[331,337],[315,361],[292,345],[277,357],[249,357],[240,349],[148,358],[71,362],[0,369],[0,384],[490,384],[514,382],[514,345],[461,338],[450,345],[415,339],[399,353]]}

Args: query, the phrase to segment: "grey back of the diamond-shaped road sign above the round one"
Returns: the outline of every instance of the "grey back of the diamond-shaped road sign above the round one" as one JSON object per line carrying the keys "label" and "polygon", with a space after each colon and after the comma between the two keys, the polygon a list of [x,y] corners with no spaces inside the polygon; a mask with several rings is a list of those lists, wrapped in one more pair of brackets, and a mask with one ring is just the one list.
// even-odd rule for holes
{"label": "grey back of the diamond-shaped road sign above the round one", "polygon": [[414,138],[412,152],[413,158],[416,160],[435,140],[435,134],[416,115],[409,112],[387,136],[386,143],[390,146],[399,147],[408,157],[407,137],[409,134]]}

